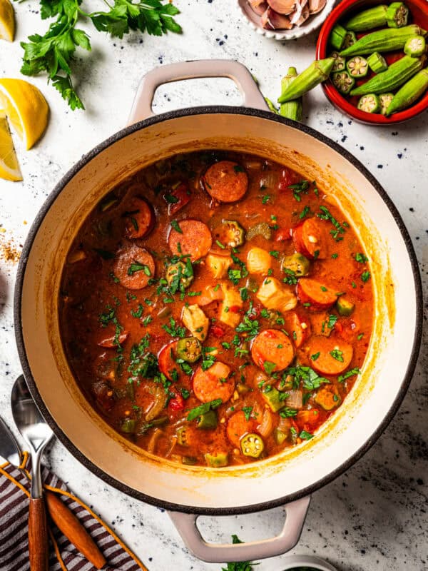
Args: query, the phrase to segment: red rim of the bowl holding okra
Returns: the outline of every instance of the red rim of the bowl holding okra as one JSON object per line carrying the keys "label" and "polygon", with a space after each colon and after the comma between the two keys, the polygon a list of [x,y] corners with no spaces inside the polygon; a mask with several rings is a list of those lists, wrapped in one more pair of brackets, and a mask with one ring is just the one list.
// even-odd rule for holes
{"label": "red rim of the bowl holding okra", "polygon": [[[327,57],[328,51],[328,38],[333,26],[337,24],[337,21],[342,19],[344,14],[355,7],[356,4],[365,4],[367,0],[342,0],[340,4],[337,4],[334,10],[328,14],[327,19],[325,19],[320,29],[320,34],[317,39],[317,48],[315,52],[316,59],[324,59]],[[409,4],[417,4],[421,10],[427,10],[427,0],[408,0]],[[382,4],[382,0],[377,0],[378,4]],[[374,2],[371,4],[375,4]],[[321,84],[322,91],[324,91],[327,99],[332,103],[339,111],[346,113],[360,123],[367,123],[370,125],[394,125],[396,123],[403,123],[408,121],[420,113],[427,111],[428,109],[428,92],[419,99],[419,101],[407,109],[398,111],[394,113],[390,118],[381,115],[380,113],[365,113],[365,111],[360,111],[357,107],[349,103],[345,97],[343,97],[337,89],[330,83],[325,82]]]}

